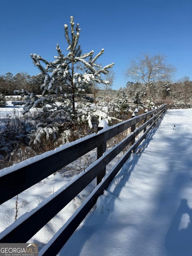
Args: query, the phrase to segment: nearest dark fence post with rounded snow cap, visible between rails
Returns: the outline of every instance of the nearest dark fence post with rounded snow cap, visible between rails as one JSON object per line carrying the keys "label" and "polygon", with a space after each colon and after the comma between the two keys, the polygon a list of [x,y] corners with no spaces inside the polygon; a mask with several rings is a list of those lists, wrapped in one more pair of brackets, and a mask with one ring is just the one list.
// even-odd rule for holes
{"label": "nearest dark fence post with rounded snow cap, visible between rails", "polygon": [[[104,127],[107,127],[107,126],[108,126],[107,122],[104,119],[102,119],[99,122],[97,131],[101,131]],[[106,148],[107,148],[107,141],[103,141],[103,143],[97,147],[97,159],[99,159],[103,155],[103,153],[106,151]],[[97,185],[101,182],[105,174],[106,174],[106,166],[101,171],[101,173],[99,173],[99,175],[97,176]]]}

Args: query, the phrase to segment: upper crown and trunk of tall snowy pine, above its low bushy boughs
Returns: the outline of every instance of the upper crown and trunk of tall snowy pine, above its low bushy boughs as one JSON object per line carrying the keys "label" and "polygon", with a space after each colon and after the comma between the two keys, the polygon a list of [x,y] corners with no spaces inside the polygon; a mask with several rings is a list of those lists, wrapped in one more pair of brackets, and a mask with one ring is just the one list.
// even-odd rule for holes
{"label": "upper crown and trunk of tall snowy pine, above its low bushy boughs", "polygon": [[[61,109],[70,101],[73,112],[75,110],[75,101],[80,96],[86,98],[83,95],[83,91],[87,86],[96,83],[107,84],[101,78],[101,74],[107,74],[108,69],[112,68],[114,63],[102,68],[101,65],[97,65],[95,62],[98,57],[104,53],[104,49],[101,50],[95,57],[93,57],[94,51],[82,54],[81,46],[79,44],[79,24],[74,28],[73,17],[70,17],[71,33],[69,35],[68,26],[64,25],[65,38],[67,41],[67,56],[61,52],[59,45],[57,44],[56,50],[58,56],[55,56],[55,61],[48,62],[40,55],[31,54],[34,64],[44,74],[44,83],[41,85],[42,97],[38,97],[35,94],[29,93],[26,90],[16,91],[22,95],[27,95],[25,101],[23,101],[24,107],[22,113],[26,113],[32,106],[39,103],[42,105],[49,104],[52,107]],[[42,64],[41,64],[42,63]],[[44,67],[46,65],[46,67]],[[58,97],[59,96],[59,97]],[[56,104],[56,101],[61,101],[61,104]],[[69,107],[67,105],[67,107]]]}

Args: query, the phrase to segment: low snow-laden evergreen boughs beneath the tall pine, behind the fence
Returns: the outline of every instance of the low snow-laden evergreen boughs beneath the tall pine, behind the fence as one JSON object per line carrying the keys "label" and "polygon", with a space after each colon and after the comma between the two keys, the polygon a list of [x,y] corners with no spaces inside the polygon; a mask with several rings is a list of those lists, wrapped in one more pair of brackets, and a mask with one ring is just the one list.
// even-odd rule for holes
{"label": "low snow-laden evergreen boughs beneath the tall pine, behind the fence", "polygon": [[42,120],[42,122],[39,122],[29,134],[29,145],[36,152],[45,152],[97,132],[97,126],[101,119],[105,119],[111,125],[114,122],[119,122],[118,119],[108,116],[107,113],[90,106],[90,104],[80,103],[78,107],[80,108],[73,111],[69,104],[65,110],[63,108],[60,110],[44,108],[39,114],[36,113],[35,120]]}

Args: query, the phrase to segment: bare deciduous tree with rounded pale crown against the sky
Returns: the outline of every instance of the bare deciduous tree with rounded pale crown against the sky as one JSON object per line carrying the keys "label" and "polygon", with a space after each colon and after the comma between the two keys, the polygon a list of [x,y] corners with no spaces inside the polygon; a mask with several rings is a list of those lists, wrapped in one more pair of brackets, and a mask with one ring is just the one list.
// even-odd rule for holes
{"label": "bare deciduous tree with rounded pale crown against the sky", "polygon": [[176,68],[167,64],[166,56],[163,54],[151,55],[141,54],[132,59],[125,70],[125,77],[131,77],[134,81],[141,83],[151,95],[151,88],[160,81],[170,80]]}

